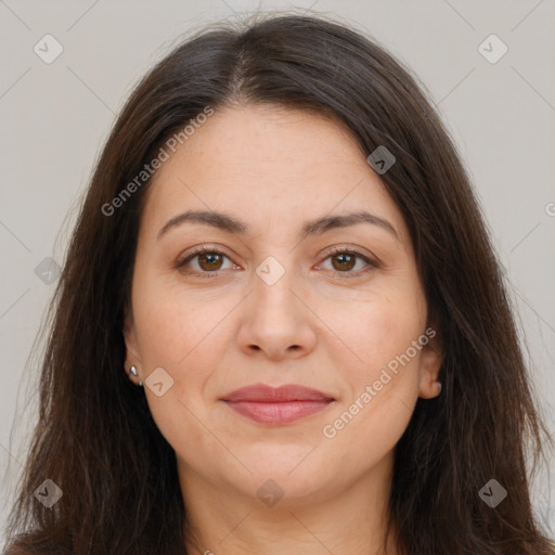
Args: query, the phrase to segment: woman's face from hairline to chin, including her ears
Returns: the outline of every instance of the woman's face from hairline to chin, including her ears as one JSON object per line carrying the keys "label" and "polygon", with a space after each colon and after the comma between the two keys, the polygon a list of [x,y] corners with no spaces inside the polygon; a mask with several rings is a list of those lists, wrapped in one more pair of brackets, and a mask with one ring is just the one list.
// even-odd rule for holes
{"label": "woman's face from hairline to chin, including her ears", "polygon": [[[195,211],[219,216],[167,225]],[[387,477],[417,397],[439,392],[434,334],[401,212],[337,122],[218,111],[155,175],[126,367],[146,380],[185,491],[295,503]],[[255,384],[326,400],[223,400]]]}

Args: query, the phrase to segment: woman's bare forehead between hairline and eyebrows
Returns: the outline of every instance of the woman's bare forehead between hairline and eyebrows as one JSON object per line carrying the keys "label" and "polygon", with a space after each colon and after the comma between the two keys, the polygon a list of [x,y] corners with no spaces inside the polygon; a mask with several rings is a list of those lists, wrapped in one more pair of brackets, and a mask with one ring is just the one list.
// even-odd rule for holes
{"label": "woman's bare forehead between hairline and eyebrows", "polygon": [[195,208],[233,214],[263,232],[366,209],[387,218],[403,244],[408,240],[398,207],[358,141],[341,122],[314,112],[275,105],[216,111],[162,165],[146,193],[145,225],[160,228]]}

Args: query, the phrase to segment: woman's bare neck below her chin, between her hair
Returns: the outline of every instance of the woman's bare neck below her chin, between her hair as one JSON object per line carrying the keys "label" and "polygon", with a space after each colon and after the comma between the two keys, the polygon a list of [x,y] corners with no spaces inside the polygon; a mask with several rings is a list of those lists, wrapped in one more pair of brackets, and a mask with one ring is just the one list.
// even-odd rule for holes
{"label": "woman's bare neck below her chin, between her hair", "polygon": [[302,499],[284,492],[267,506],[256,494],[208,482],[178,460],[188,514],[186,553],[396,555],[393,527],[385,551],[391,461],[388,455],[347,488],[334,491],[330,486]]}

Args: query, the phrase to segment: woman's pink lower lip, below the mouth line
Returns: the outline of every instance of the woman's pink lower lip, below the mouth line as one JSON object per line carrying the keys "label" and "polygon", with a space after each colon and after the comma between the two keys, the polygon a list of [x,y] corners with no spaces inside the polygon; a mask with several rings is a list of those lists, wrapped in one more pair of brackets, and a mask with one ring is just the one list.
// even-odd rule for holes
{"label": "woman's pink lower lip, below the mouth line", "polygon": [[228,405],[243,416],[260,424],[280,426],[317,414],[333,401],[285,401],[263,403],[253,401],[225,401]]}

